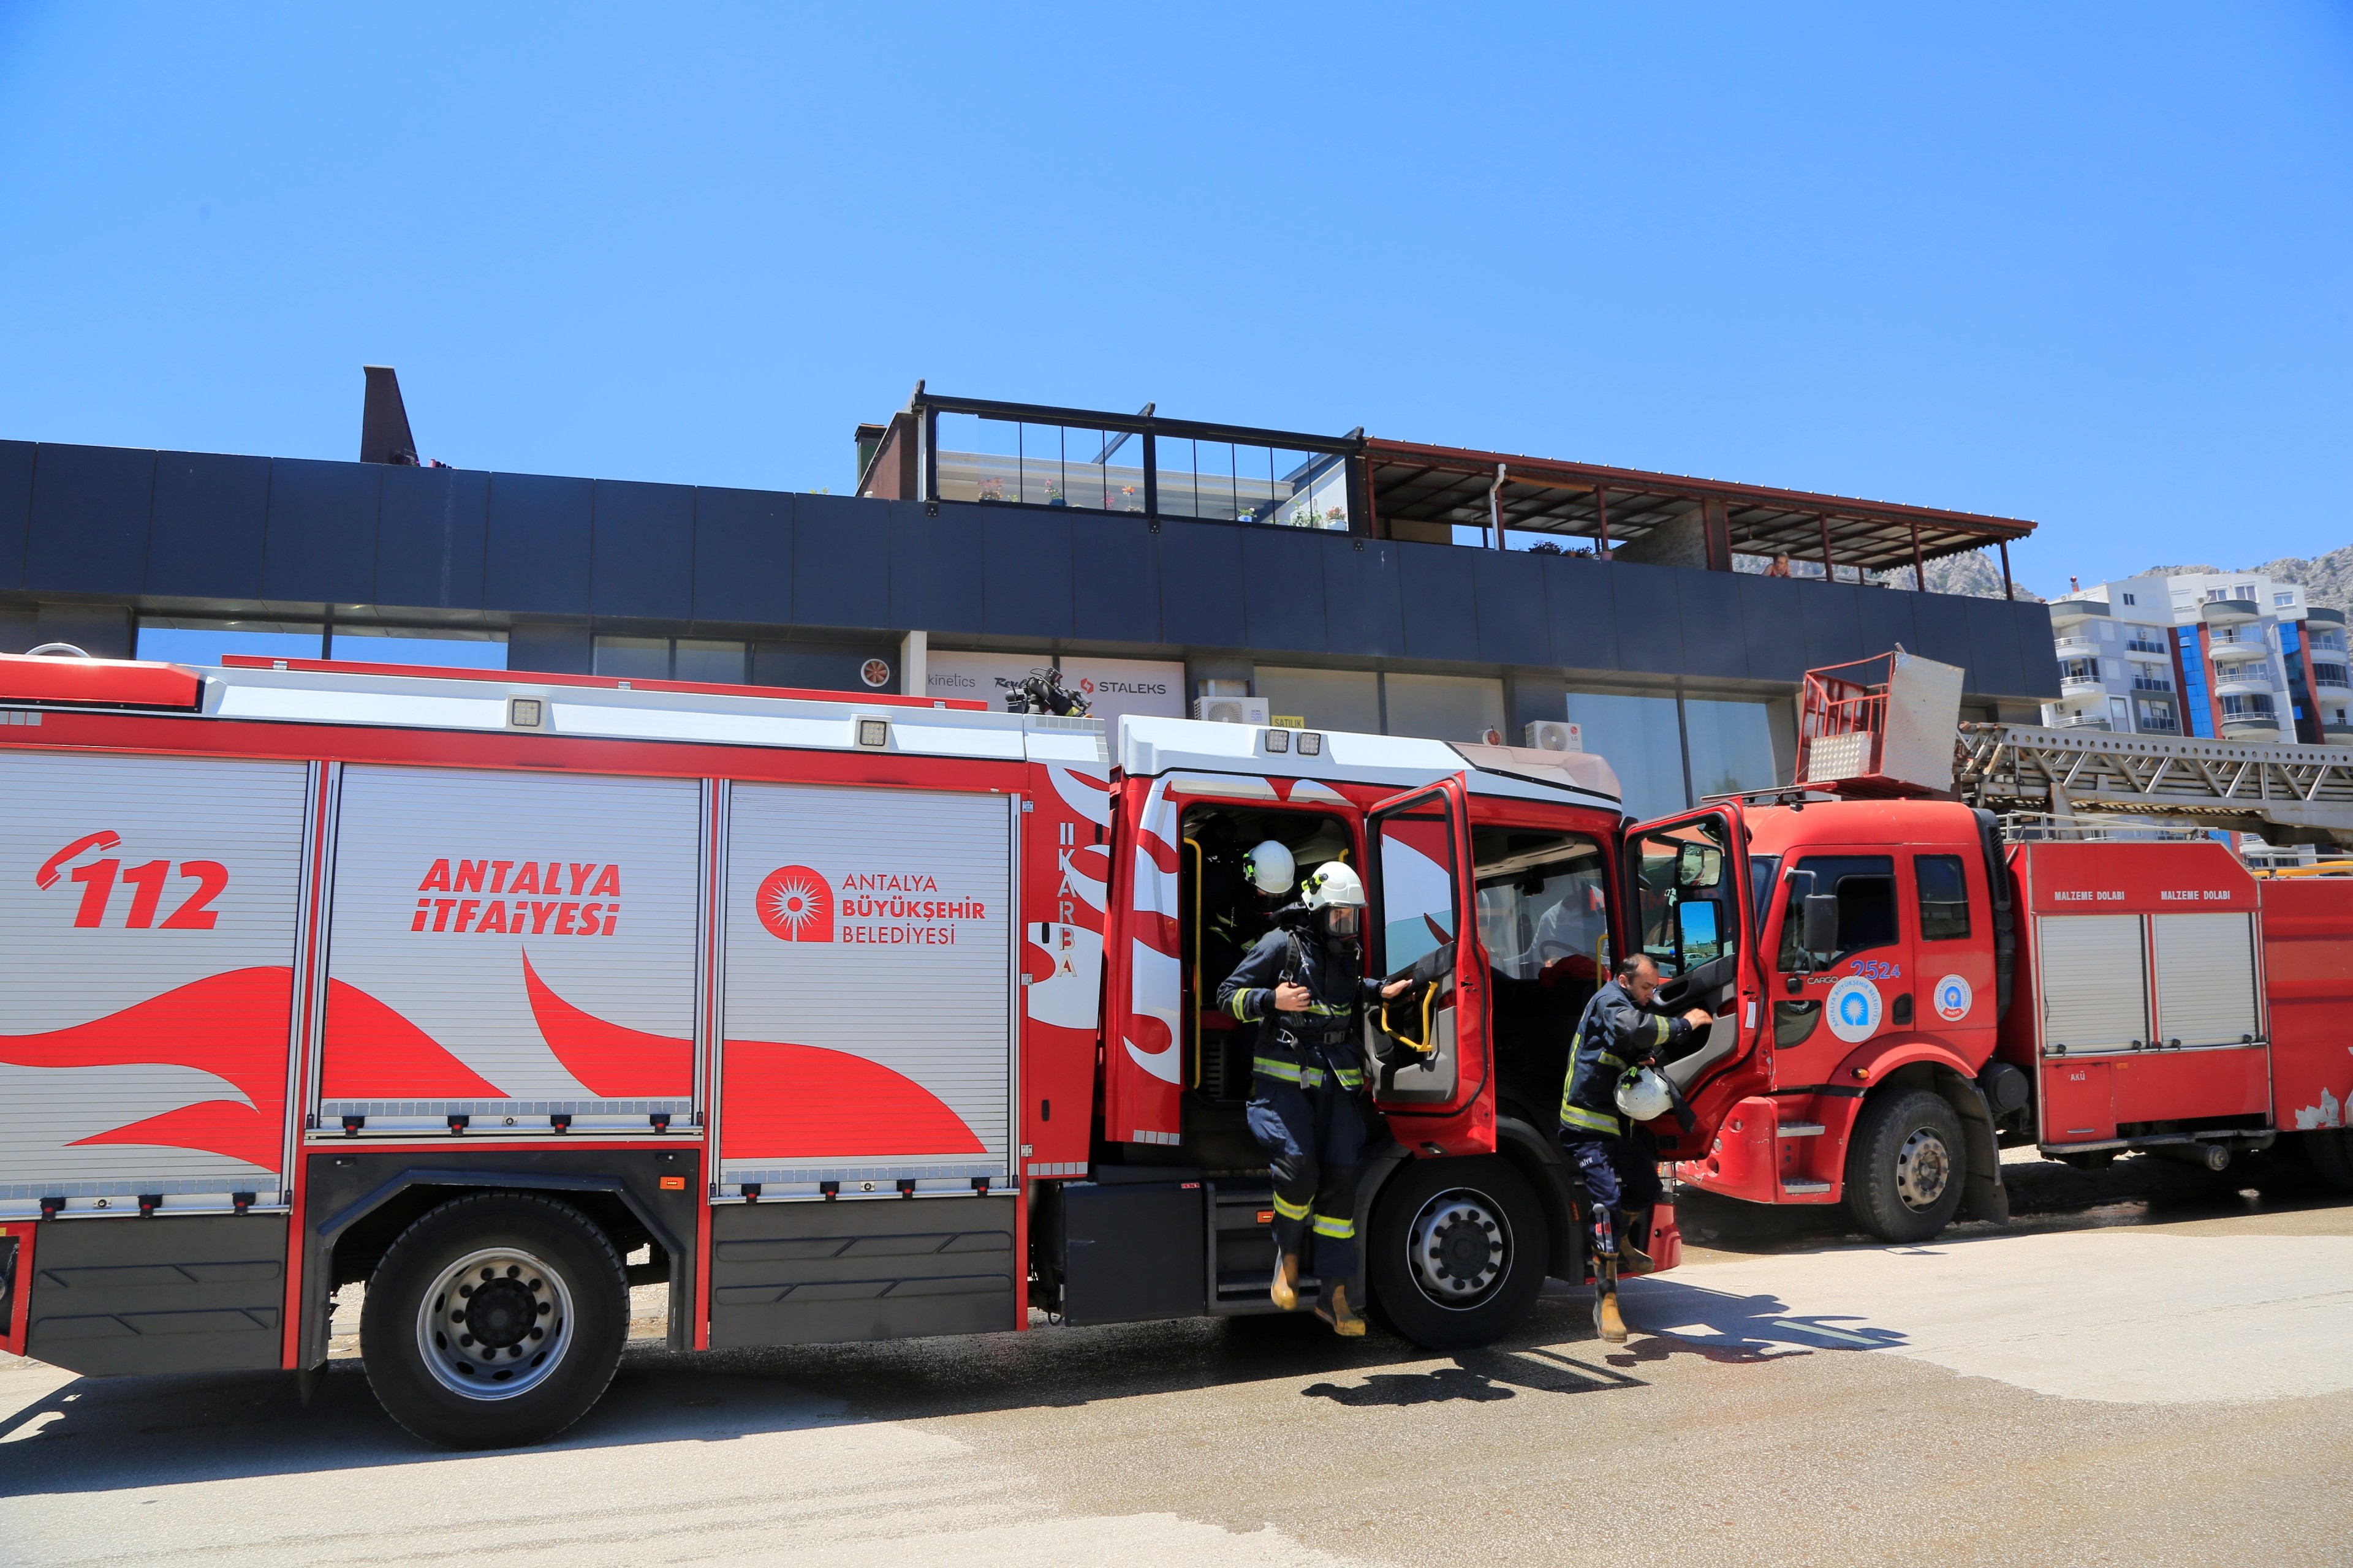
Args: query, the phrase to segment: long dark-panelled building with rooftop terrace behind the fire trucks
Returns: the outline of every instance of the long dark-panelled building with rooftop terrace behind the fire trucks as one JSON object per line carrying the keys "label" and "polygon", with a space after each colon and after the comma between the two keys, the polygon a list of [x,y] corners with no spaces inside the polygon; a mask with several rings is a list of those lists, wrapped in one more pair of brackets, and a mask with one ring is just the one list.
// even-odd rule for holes
{"label": "long dark-panelled building with rooftop terrace behind the fire trucks", "polygon": [[[386,374],[388,381],[388,374]],[[1522,456],[1009,404],[859,428],[859,494],[0,442],[0,651],[435,663],[1522,743],[1628,809],[1793,769],[1807,668],[1904,644],[1977,717],[2059,696],[2033,602],[1864,578],[2033,524]],[[1826,578],[1732,571],[1819,550]],[[1257,708],[1252,708],[1257,712]]]}

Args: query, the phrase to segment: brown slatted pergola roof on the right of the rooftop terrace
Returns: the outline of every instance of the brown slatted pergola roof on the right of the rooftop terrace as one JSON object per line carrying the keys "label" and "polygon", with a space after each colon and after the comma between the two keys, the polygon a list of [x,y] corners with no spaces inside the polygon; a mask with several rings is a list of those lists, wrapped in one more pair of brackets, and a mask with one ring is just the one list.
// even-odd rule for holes
{"label": "brown slatted pergola roof on the right of the rooftop terrace", "polygon": [[[1715,512],[1739,555],[1791,555],[1826,567],[1887,571],[1986,545],[2002,548],[2035,524],[2017,517],[1948,512],[1934,505],[1854,501],[1762,484],[1727,484],[1682,475],[1565,463],[1506,451],[1419,447],[1369,437],[1374,517],[1381,524],[1442,522],[1506,531],[1591,538],[1612,550],[1668,520]],[[1497,487],[1501,475],[1501,487]]]}

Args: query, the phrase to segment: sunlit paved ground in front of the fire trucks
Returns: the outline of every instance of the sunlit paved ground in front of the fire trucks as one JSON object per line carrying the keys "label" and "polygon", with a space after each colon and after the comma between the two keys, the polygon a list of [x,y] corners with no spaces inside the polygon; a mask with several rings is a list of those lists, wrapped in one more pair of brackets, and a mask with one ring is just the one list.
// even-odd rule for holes
{"label": "sunlit paved ground in front of the fire trucks", "polygon": [[645,1345],[532,1453],[428,1450],[353,1363],[304,1408],[16,1361],[0,1561],[2353,1563],[2353,1208],[2012,1180],[2019,1225],[1922,1248],[1689,1199],[1626,1347],[1574,1291],[1447,1359],[1268,1319]]}

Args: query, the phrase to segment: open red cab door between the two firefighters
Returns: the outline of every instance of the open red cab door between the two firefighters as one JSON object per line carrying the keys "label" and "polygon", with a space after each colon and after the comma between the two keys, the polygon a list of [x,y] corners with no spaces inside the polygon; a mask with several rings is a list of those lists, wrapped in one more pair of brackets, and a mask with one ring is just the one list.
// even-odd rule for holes
{"label": "open red cab door between the two firefighters", "polygon": [[[1471,806],[1461,778],[1393,795],[1365,813],[1365,973],[1414,978],[1365,1009],[1372,1098],[1393,1117],[1459,1117],[1487,1084],[1487,959],[1478,945]],[[1414,1124],[1414,1143],[1494,1143],[1492,1114],[1461,1128]],[[1405,1133],[1400,1131],[1400,1140]]]}

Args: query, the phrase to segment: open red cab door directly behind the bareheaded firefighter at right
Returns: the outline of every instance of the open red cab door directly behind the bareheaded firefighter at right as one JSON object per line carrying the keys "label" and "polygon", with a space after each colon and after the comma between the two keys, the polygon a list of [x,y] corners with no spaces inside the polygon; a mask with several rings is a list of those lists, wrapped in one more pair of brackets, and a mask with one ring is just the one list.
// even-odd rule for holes
{"label": "open red cab door directly behind the bareheaded firefighter at right", "polygon": [[1706,1152],[1732,1105],[1772,1086],[1772,1053],[1758,1030],[1760,1011],[1769,1013],[1755,954],[1760,910],[1748,882],[1737,802],[1626,830],[1624,950],[1647,952],[1659,966],[1661,1013],[1704,1009],[1715,1018],[1661,1060],[1697,1119],[1689,1131],[1673,1117],[1652,1124],[1661,1154]]}

